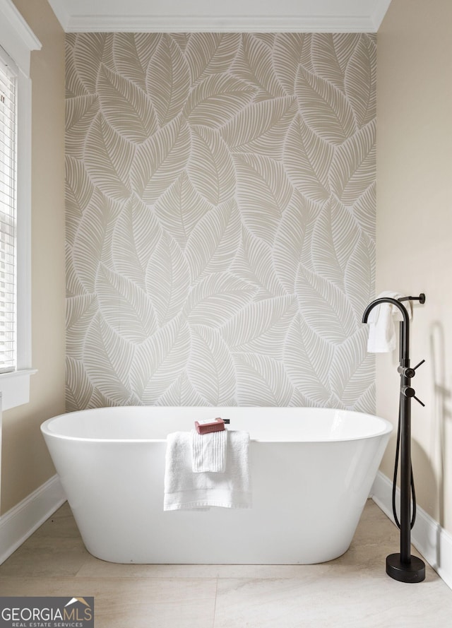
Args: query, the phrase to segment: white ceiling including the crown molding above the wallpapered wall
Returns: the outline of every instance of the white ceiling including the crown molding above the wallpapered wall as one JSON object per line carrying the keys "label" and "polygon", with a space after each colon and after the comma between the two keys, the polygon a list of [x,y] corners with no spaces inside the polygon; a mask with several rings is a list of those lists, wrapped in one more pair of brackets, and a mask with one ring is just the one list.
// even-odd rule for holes
{"label": "white ceiling including the crown molding above the wallpapered wall", "polygon": [[391,0],[49,0],[66,32],[376,32]]}

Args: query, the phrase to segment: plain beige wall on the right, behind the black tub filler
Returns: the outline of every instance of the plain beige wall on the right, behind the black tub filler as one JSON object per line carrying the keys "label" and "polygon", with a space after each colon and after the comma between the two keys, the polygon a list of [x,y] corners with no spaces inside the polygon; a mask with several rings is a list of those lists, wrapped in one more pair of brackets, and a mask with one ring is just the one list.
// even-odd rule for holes
{"label": "plain beige wall on the right, behind the black tub filler", "polygon": [[[376,288],[417,295],[412,461],[418,503],[452,531],[452,3],[393,0],[377,38]],[[396,358],[377,358],[377,412],[396,422]],[[393,439],[383,459],[392,478]]]}

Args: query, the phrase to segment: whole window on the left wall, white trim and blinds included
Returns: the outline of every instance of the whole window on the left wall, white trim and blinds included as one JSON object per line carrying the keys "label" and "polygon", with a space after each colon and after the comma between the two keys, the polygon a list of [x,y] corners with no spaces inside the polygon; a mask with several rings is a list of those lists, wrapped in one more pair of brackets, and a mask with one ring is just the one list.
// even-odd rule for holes
{"label": "whole window on the left wall, white trim and blinds included", "polygon": [[0,0],[0,393],[28,403],[31,368],[30,52],[40,42],[11,0]]}

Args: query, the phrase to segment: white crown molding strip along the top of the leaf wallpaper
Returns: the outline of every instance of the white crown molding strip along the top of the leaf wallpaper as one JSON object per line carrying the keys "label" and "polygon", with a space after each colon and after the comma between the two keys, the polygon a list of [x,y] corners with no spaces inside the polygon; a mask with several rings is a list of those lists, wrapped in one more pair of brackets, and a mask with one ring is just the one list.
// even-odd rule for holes
{"label": "white crown molding strip along the top of the leaf wallpaper", "polygon": [[374,20],[368,16],[73,16],[69,18],[65,30],[66,32],[376,32]]}

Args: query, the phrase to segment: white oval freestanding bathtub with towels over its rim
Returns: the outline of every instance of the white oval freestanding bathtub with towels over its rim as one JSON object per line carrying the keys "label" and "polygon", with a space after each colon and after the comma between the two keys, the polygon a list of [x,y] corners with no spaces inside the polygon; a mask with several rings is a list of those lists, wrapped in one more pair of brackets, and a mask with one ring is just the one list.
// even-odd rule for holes
{"label": "white oval freestanding bathtub with towels over its rim", "polygon": [[[166,437],[230,419],[251,437],[251,509],[163,511]],[[42,434],[88,551],[119,563],[310,564],[349,547],[391,434],[321,408],[97,408]]]}

